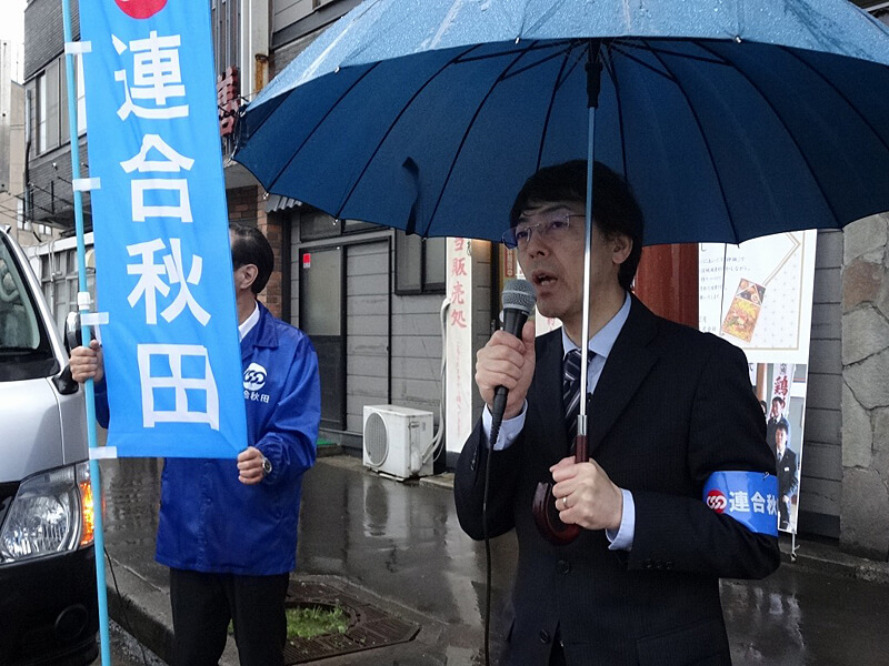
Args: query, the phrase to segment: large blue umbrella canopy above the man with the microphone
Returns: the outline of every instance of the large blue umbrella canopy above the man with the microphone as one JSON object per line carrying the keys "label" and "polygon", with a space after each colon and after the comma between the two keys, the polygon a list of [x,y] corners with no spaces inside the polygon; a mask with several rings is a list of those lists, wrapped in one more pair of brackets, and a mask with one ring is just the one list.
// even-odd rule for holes
{"label": "large blue umbrella canopy above the man with the microphone", "polygon": [[646,244],[889,210],[889,30],[845,0],[368,0],[249,104],[234,159],[336,218],[498,240],[528,175],[588,155],[590,49],[595,155]]}

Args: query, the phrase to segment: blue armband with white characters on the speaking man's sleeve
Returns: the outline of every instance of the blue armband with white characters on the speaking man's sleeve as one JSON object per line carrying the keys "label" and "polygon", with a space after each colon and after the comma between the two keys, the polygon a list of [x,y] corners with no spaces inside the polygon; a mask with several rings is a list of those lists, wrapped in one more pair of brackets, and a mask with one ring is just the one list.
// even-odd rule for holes
{"label": "blue armband with white characters on the speaking man's sleeve", "polygon": [[763,472],[713,472],[703,501],[751,532],[778,536],[778,477]]}

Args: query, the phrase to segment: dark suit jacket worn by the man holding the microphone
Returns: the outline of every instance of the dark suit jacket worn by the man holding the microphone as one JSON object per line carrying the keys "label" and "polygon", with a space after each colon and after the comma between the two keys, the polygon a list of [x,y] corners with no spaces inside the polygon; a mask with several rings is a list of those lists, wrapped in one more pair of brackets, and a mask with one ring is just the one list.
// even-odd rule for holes
{"label": "dark suit jacket worn by the man holding the microphone", "polygon": [[[718,470],[775,473],[762,410],[743,353],[713,335],[655,316],[633,297],[588,410],[591,456],[636,503],[630,552],[602,531],[555,546],[531,515],[538,482],[568,455],[561,407],[561,334],[537,341],[521,436],[491,454],[489,525],[519,543],[508,663],[548,664],[557,630],[570,666],[730,664],[719,578],[759,578],[780,561],[778,539],[707,507]],[[480,424],[457,467],[460,524],[482,538]]]}

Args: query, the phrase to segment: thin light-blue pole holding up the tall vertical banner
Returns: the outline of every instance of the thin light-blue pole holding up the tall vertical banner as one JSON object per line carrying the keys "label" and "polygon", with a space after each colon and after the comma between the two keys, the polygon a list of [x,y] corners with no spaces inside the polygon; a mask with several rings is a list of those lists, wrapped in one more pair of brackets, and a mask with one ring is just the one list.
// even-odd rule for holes
{"label": "thin light-blue pole holding up the tall vertical banner", "polygon": [[[62,0],[62,14],[64,18],[64,71],[68,83],[68,133],[71,141],[71,182],[74,195],[74,229],[77,231],[77,268],[78,294],[77,304],[80,312],[80,335],[83,344],[89,344],[90,326],[90,294],[87,287],[87,260],[83,241],[83,196],[80,178],[80,145],[78,140],[77,122],[77,85],[74,84],[74,51],[71,29],[71,0]],[[79,42],[78,42],[79,43]],[[81,49],[82,53],[83,50]],[[104,578],[104,528],[102,519],[102,483],[99,471],[99,461],[93,455],[96,443],[96,402],[92,379],[84,383],[87,392],[87,432],[90,451],[90,486],[92,490],[92,505],[94,516],[93,546],[96,552],[96,592],[99,601],[99,647],[101,649],[102,666],[111,666],[111,644],[108,632],[108,593]]]}

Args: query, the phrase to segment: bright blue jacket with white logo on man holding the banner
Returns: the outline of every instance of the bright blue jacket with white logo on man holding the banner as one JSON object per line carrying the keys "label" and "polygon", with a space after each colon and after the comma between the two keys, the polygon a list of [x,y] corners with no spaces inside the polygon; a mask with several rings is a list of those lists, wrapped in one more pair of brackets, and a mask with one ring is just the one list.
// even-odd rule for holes
{"label": "bright blue jacket with white logo on man holding the banner", "polygon": [[[314,464],[321,414],[318,359],[304,333],[259,309],[241,341],[247,445],[272,472],[248,486],[233,460],[167,458],[156,553],[167,566],[250,576],[296,566],[302,474]],[[97,404],[100,422],[104,414]]]}

